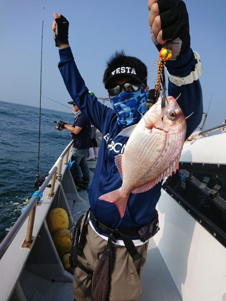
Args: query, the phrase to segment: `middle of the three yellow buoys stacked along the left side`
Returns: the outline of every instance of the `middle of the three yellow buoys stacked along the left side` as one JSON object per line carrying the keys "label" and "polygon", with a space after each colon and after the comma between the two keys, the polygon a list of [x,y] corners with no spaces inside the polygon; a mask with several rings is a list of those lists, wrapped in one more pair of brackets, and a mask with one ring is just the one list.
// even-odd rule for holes
{"label": "middle of the three yellow buoys stacked along the left side", "polygon": [[71,251],[71,240],[70,240],[70,231],[67,229],[60,229],[53,235],[53,242],[56,247],[56,250],[60,256],[60,259],[66,253]]}

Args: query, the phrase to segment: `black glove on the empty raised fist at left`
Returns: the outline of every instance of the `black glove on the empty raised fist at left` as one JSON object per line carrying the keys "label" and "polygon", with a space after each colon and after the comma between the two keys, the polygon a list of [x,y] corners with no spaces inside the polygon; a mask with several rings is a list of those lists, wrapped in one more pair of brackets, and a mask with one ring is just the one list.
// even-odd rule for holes
{"label": "black glove on the empty raised fist at left", "polygon": [[68,27],[69,22],[64,16],[60,16],[60,18],[55,19],[56,21],[56,32],[54,34],[54,40],[56,43],[56,47],[60,44],[69,44],[68,43]]}

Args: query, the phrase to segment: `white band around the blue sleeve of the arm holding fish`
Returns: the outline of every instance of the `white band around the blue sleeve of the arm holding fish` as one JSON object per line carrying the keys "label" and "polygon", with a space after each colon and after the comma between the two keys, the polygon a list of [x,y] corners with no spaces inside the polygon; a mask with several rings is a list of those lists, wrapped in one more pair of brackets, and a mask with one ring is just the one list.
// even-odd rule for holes
{"label": "white band around the blue sleeve of the arm holding fish", "polygon": [[179,77],[179,76],[171,75],[167,70],[169,80],[176,86],[180,87],[182,85],[191,84],[191,83],[193,83],[193,81],[197,80],[201,76],[202,64],[200,61],[200,57],[196,51],[193,51],[193,52],[194,52],[194,57],[197,60],[197,63],[195,64],[194,71],[191,71],[191,73],[189,75],[187,75],[185,77]]}

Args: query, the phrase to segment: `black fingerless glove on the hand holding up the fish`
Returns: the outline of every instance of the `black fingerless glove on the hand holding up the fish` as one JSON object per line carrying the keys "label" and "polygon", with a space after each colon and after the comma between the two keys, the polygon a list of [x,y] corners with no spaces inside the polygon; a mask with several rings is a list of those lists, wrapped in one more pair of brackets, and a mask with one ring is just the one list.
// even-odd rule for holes
{"label": "black fingerless glove on the hand holding up the fish", "polygon": [[[182,0],[159,0],[159,15],[162,25],[162,38],[167,41],[165,47],[172,49],[170,60],[180,60],[190,47],[189,20],[185,3]],[[152,34],[152,40],[158,50],[158,44]]]}

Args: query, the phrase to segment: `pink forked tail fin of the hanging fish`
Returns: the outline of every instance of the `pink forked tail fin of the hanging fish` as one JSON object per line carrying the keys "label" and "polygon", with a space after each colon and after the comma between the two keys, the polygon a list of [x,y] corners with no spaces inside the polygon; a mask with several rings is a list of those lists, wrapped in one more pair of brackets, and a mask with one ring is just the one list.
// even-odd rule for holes
{"label": "pink forked tail fin of the hanging fish", "polygon": [[120,217],[123,218],[126,211],[128,198],[129,195],[123,194],[121,188],[119,188],[100,196],[99,200],[114,203],[119,210]]}

